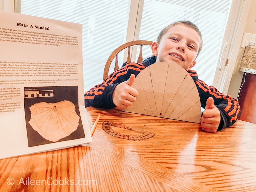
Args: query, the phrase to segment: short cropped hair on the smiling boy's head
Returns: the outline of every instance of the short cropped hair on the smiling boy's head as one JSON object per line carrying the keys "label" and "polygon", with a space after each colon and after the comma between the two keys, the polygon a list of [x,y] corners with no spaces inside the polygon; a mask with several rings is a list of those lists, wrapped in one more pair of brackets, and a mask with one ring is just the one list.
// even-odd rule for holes
{"label": "short cropped hair on the smiling boy's head", "polygon": [[172,24],[166,26],[166,27],[163,28],[163,29],[161,30],[161,32],[159,33],[159,35],[158,35],[158,37],[157,37],[157,39],[156,39],[156,42],[157,42],[157,43],[160,43],[160,41],[162,40],[162,37],[164,36],[164,34],[166,34],[166,33],[168,32],[168,30],[169,30],[170,28],[174,27],[175,25],[184,25],[184,26],[186,26],[186,27],[189,27],[189,28],[194,29],[194,30],[198,33],[198,35],[200,36],[201,42],[200,42],[200,44],[199,44],[198,53],[197,53],[197,55],[196,55],[196,58],[197,58],[197,56],[198,56],[198,54],[199,54],[199,52],[201,51],[202,46],[203,46],[203,39],[202,39],[202,34],[201,34],[199,28],[198,28],[194,23],[192,23],[191,21],[182,20],[182,21],[177,21],[177,22],[174,22],[174,23],[172,23]]}

